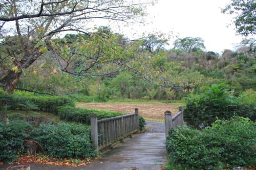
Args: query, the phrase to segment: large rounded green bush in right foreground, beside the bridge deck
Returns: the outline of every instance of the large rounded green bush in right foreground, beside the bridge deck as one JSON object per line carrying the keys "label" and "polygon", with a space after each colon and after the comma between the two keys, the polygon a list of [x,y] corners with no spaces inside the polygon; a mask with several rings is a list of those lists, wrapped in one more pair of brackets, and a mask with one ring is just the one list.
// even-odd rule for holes
{"label": "large rounded green bush in right foreground, beside the bridge deck", "polygon": [[[169,131],[166,149],[173,164],[188,169],[223,169],[256,163],[256,124],[234,116],[202,132],[183,126]],[[183,168],[184,169],[184,168]]]}

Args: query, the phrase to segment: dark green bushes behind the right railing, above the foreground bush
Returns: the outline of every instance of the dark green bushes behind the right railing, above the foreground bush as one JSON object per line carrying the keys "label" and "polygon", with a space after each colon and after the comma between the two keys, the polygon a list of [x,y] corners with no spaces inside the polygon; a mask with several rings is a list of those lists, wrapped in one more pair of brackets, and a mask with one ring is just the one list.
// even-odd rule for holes
{"label": "dark green bushes behind the right railing, above the foreground bush", "polygon": [[249,96],[253,95],[253,90],[251,90],[251,94],[245,92],[236,98],[231,95],[228,86],[224,83],[214,84],[211,87],[205,87],[205,89],[206,91],[202,94],[189,95],[185,99],[184,119],[187,124],[197,128],[210,126],[217,117],[228,119],[234,114],[249,117],[255,121],[255,100],[249,99],[253,98]]}

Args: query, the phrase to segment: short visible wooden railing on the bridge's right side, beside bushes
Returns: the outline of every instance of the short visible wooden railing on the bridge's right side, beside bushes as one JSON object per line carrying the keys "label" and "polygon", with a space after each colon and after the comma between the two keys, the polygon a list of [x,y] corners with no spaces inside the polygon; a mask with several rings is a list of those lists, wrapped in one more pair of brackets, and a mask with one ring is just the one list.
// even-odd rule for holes
{"label": "short visible wooden railing on the bridge's right side, beside bushes", "polygon": [[164,112],[164,122],[165,122],[165,137],[167,137],[169,129],[176,129],[177,126],[182,126],[184,124],[182,107],[179,106],[179,112],[172,116],[172,112]]}

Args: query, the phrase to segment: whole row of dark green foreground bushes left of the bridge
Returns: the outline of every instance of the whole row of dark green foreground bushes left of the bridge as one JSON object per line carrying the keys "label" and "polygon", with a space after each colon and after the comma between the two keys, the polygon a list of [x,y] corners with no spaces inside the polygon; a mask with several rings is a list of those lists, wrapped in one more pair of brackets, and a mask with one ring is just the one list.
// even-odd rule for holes
{"label": "whole row of dark green foreground bushes left of the bridge", "polygon": [[14,161],[17,153],[22,153],[25,139],[36,140],[44,154],[53,157],[92,158],[95,152],[90,134],[90,128],[75,123],[40,124],[38,128],[23,120],[0,123],[0,161]]}

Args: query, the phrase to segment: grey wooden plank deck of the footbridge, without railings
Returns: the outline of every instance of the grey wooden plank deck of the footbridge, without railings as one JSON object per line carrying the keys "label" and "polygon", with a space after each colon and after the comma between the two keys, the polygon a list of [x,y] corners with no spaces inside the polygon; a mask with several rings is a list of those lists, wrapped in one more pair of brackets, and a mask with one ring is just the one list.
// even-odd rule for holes
{"label": "grey wooden plank deck of the footbridge, without railings", "polygon": [[165,159],[164,133],[144,133],[119,144],[110,152],[101,155],[95,163],[89,164],[95,169],[161,169]]}

